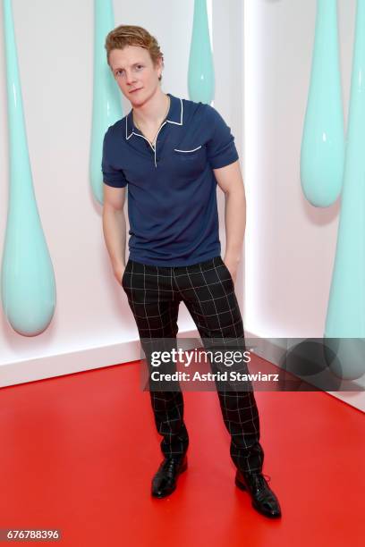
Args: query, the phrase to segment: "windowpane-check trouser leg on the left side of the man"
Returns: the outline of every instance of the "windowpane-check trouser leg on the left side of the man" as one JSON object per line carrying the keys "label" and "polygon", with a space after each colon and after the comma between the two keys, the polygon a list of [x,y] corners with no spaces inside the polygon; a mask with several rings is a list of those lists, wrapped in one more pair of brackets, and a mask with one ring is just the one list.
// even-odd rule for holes
{"label": "windowpane-check trouser leg on the left side of the man", "polygon": [[[123,290],[140,335],[149,374],[149,395],[157,432],[162,435],[164,456],[183,456],[189,445],[189,435],[183,421],[183,393],[179,383],[174,391],[156,391],[150,374],[151,352],[176,347],[177,317],[181,299],[174,290],[172,268],[143,265],[129,260],[123,275]],[[165,370],[174,372],[173,363]]]}

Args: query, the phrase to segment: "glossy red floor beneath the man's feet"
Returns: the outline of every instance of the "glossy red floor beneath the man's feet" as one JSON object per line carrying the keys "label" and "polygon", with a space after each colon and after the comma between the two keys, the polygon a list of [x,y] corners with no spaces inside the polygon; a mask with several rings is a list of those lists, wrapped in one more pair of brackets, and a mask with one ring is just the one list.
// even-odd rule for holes
{"label": "glossy red floor beneath the man's feet", "polygon": [[0,391],[0,528],[58,528],[72,547],[364,544],[361,411],[321,392],[256,393],[283,511],[270,520],[233,483],[214,392],[184,393],[189,468],[150,498],[162,456],[139,374],[136,362]]}

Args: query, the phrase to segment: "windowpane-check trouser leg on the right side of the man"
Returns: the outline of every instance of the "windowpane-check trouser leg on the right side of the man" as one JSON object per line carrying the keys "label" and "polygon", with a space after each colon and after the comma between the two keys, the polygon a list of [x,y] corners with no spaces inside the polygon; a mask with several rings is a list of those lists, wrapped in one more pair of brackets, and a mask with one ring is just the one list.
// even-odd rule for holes
{"label": "windowpane-check trouser leg on the right side of the man", "polygon": [[[188,308],[199,335],[208,349],[245,350],[241,311],[234,293],[231,274],[221,257],[199,265],[174,268],[183,301]],[[220,340],[222,343],[220,343]],[[216,343],[218,342],[218,345]],[[226,346],[225,346],[226,344]],[[211,363],[212,372],[222,367]],[[232,366],[230,370],[248,374],[246,363]],[[236,467],[243,471],[261,470],[264,450],[259,443],[259,411],[250,383],[216,383],[225,427],[231,435],[230,454]],[[238,389],[240,388],[240,389]]]}

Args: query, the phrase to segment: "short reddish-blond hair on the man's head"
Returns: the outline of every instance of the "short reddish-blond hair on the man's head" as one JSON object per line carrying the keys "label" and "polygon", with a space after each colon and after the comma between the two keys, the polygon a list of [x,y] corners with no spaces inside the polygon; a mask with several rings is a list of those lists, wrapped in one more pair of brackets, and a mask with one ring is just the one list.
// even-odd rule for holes
{"label": "short reddish-blond hair on the man's head", "polygon": [[[160,51],[157,39],[149,34],[149,31],[136,25],[119,25],[111,30],[106,36],[106,59],[109,63],[109,55],[112,49],[123,49],[125,46],[140,46],[149,51],[149,56],[154,66],[158,59],[162,59],[164,66],[164,55]],[[158,78],[162,80],[162,75]]]}

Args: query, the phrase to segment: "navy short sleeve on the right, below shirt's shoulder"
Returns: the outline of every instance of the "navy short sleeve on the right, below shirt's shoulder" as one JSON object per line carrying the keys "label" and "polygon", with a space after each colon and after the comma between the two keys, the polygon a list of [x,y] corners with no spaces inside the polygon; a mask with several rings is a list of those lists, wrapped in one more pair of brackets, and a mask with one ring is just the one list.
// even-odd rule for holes
{"label": "navy short sleeve on the right, below shirt's shoulder", "polygon": [[208,162],[212,169],[219,169],[238,160],[231,128],[213,106],[207,105]]}

